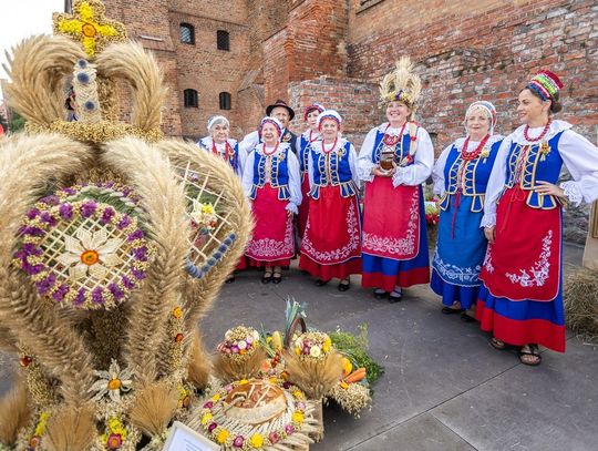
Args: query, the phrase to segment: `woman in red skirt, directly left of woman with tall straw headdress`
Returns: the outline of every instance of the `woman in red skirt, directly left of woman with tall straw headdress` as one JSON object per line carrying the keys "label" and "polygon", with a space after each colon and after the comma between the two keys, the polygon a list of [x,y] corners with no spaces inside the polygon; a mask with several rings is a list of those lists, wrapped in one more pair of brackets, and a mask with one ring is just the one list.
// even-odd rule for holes
{"label": "woman in red skirt, directly left of woman with tall straw headdress", "polygon": [[318,116],[322,139],[309,153],[309,217],[299,267],[318,277],[322,286],[340,279],[349,289],[351,274],[361,273],[359,178],[353,145],[340,137],[342,119],[334,110]]}

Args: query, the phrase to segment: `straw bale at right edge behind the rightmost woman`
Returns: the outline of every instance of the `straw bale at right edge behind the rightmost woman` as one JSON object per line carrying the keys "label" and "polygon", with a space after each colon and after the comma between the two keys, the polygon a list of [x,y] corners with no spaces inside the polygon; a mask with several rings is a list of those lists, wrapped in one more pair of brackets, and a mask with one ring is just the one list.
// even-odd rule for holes
{"label": "straw bale at right edge behind the rightmost woman", "polygon": [[598,344],[598,273],[582,268],[570,274],[563,289],[567,326],[591,344]]}

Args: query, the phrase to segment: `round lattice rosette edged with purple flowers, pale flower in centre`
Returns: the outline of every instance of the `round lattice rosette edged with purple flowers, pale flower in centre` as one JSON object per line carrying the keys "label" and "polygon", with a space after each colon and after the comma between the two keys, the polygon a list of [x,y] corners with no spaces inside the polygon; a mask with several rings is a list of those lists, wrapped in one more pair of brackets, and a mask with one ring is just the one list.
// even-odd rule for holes
{"label": "round lattice rosette edged with purple flowers, pale flower in centre", "polygon": [[51,196],[30,209],[13,263],[62,305],[111,308],[145,278],[153,247],[137,219],[112,205]]}

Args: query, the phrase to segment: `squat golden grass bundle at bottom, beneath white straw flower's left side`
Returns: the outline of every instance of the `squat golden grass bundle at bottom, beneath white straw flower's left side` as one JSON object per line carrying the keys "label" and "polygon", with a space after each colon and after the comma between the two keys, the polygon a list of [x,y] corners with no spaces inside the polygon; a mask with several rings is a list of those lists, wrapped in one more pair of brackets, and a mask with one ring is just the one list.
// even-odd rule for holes
{"label": "squat golden grass bundle at bottom, beneath white straw flower's left side", "polygon": [[44,444],[49,451],[82,451],[92,445],[97,430],[89,407],[66,407],[50,417]]}

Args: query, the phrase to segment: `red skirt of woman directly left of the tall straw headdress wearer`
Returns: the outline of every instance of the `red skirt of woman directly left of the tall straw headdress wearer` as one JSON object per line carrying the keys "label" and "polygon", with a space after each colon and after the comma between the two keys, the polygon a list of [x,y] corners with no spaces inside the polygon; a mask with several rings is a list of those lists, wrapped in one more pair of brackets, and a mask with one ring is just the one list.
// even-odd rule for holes
{"label": "red skirt of woman directly left of the tall straw headdress wearer", "polygon": [[361,218],[357,196],[342,197],[340,186],[323,186],[318,199],[309,198],[299,268],[322,280],[344,279],[361,273]]}

